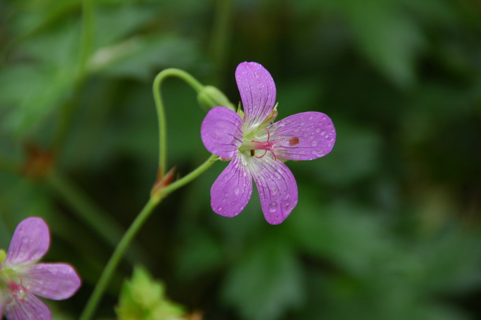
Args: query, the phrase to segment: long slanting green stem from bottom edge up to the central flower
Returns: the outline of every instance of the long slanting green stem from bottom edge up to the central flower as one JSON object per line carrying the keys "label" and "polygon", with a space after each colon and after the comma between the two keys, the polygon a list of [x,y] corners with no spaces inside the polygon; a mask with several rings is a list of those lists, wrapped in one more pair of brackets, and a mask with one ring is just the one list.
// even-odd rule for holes
{"label": "long slanting green stem from bottom edge up to the central flower", "polygon": [[163,198],[165,198],[168,194],[172,193],[173,191],[179,189],[181,186],[184,186],[197,178],[201,173],[207,170],[216,160],[217,156],[210,156],[208,160],[206,160],[203,164],[201,164],[197,169],[190,172],[185,177],[177,180],[176,182],[166,186],[166,188],[162,189],[161,192],[157,193],[150,197],[147,204],[144,206],[144,209],[140,211],[139,215],[135,218],[132,222],[131,226],[128,228],[124,237],[120,240],[117,248],[113,251],[109,262],[107,262],[107,266],[105,266],[102,275],[100,275],[100,279],[98,280],[96,287],[93,289],[93,293],[87,301],[87,305],[85,306],[84,311],[80,315],[80,320],[89,320],[93,316],[93,312],[95,312],[98,303],[100,303],[100,299],[102,299],[102,295],[104,295],[105,290],[107,289],[107,285],[109,284],[115,269],[117,268],[120,260],[124,256],[126,249],[128,248],[128,244],[131,243],[132,239],[137,235],[140,228],[144,225],[147,221],[150,214],[155,209],[155,206],[161,202]]}

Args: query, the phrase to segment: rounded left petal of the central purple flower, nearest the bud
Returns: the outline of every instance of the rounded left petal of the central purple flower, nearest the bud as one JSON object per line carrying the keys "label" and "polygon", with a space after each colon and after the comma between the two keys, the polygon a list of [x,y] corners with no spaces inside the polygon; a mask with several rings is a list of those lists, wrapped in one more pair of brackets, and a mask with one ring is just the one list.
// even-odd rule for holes
{"label": "rounded left petal of the central purple flower, nearest the bud", "polygon": [[201,138],[210,153],[232,158],[242,145],[242,119],[230,109],[214,107],[202,121]]}

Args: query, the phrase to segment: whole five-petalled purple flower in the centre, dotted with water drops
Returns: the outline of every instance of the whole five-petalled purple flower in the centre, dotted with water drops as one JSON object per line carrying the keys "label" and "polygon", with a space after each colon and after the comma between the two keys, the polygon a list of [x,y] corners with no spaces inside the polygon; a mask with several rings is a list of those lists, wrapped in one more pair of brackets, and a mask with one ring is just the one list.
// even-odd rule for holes
{"label": "whole five-petalled purple flower in the centre, dotted with water drops", "polygon": [[238,215],[251,198],[254,178],[265,219],[280,224],[298,203],[298,186],[284,161],[326,156],[335,142],[334,125],[315,111],[273,122],[276,85],[258,63],[240,63],[236,81],[244,112],[214,107],[201,126],[205,148],[232,158],[210,189],[212,210],[225,217]]}

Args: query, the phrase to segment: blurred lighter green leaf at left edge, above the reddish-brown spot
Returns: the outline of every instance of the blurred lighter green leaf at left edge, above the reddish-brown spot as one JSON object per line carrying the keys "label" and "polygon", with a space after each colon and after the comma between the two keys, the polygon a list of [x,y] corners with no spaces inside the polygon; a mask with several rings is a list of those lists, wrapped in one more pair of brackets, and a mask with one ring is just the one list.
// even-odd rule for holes
{"label": "blurred lighter green leaf at left edge, above the reddish-brown spot", "polygon": [[75,25],[23,43],[25,61],[0,72],[0,111],[5,131],[21,136],[36,128],[71,94],[76,81],[78,32]]}

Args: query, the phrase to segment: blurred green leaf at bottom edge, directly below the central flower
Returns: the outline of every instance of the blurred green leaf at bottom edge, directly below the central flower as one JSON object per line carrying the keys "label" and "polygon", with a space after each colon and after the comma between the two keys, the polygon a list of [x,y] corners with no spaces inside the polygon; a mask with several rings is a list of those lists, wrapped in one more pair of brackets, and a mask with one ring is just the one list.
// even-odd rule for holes
{"label": "blurred green leaf at bottom edge, directly below the central flower", "polygon": [[302,270],[282,238],[256,244],[227,273],[223,297],[243,319],[279,319],[304,300]]}

